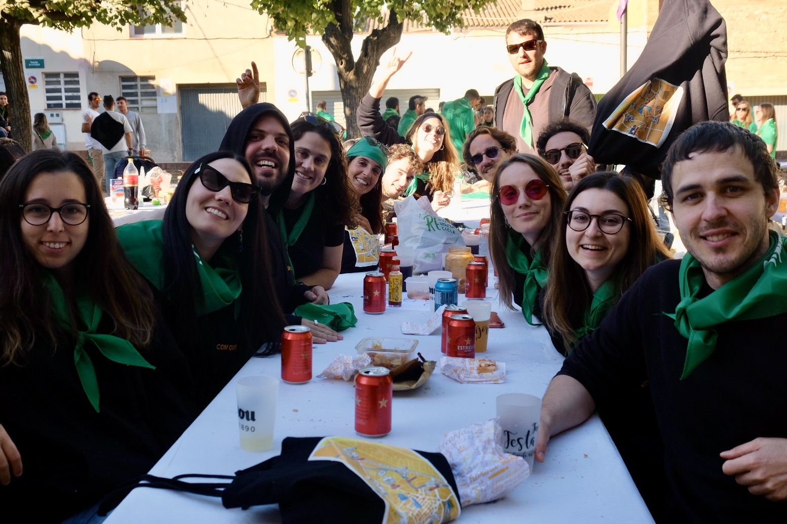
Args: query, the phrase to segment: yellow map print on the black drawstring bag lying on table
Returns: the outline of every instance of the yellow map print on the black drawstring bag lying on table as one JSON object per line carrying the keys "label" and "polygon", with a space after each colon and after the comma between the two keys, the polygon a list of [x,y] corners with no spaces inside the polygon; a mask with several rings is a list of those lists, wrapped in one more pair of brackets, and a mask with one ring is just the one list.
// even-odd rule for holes
{"label": "yellow map print on the black drawstring bag lying on table", "polygon": [[335,460],[357,474],[385,502],[382,524],[438,524],[461,513],[445,477],[412,449],[325,437],[309,460]]}

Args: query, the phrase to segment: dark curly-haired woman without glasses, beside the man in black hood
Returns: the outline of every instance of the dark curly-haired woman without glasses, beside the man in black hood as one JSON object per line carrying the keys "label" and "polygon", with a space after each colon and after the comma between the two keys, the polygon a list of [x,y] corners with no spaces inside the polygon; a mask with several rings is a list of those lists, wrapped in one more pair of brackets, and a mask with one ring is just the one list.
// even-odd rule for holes
{"label": "dark curly-haired woman without glasses, beside the man in black hood", "polygon": [[358,213],[358,197],[338,139],[341,131],[331,124],[336,123],[309,116],[290,124],[295,176],[279,215],[295,278],[326,290],[342,269],[345,226],[355,227]]}

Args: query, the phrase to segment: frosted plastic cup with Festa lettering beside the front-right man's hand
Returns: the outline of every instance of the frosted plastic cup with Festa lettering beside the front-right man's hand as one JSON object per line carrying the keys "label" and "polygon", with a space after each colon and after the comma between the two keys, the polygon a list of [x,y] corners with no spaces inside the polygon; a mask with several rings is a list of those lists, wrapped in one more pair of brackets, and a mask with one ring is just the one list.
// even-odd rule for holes
{"label": "frosted plastic cup with Festa lettering beside the front-right man's hand", "polygon": [[497,422],[501,426],[503,451],[523,457],[533,470],[541,399],[525,393],[497,396]]}

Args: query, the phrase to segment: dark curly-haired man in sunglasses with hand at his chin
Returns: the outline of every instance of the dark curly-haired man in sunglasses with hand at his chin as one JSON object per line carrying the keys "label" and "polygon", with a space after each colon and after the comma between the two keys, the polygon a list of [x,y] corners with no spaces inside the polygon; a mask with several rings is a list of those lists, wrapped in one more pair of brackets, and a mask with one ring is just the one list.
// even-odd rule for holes
{"label": "dark curly-haired man in sunglasses with hand at his chin", "polygon": [[568,119],[552,122],[538,135],[538,156],[555,168],[567,193],[579,180],[596,171],[596,163],[587,153],[589,142],[587,128]]}

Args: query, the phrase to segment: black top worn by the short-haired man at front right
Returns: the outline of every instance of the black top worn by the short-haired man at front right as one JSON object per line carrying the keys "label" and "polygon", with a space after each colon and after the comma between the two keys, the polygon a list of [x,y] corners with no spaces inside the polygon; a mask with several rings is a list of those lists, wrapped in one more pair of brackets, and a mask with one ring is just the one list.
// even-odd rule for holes
{"label": "black top worn by the short-haired man at front right", "polygon": [[581,382],[600,409],[647,381],[665,450],[663,522],[787,522],[787,504],[748,493],[719,457],[757,437],[787,438],[787,314],[715,327],[715,351],[681,380],[688,341],[663,314],[680,301],[680,264],[645,271],[560,375]]}

